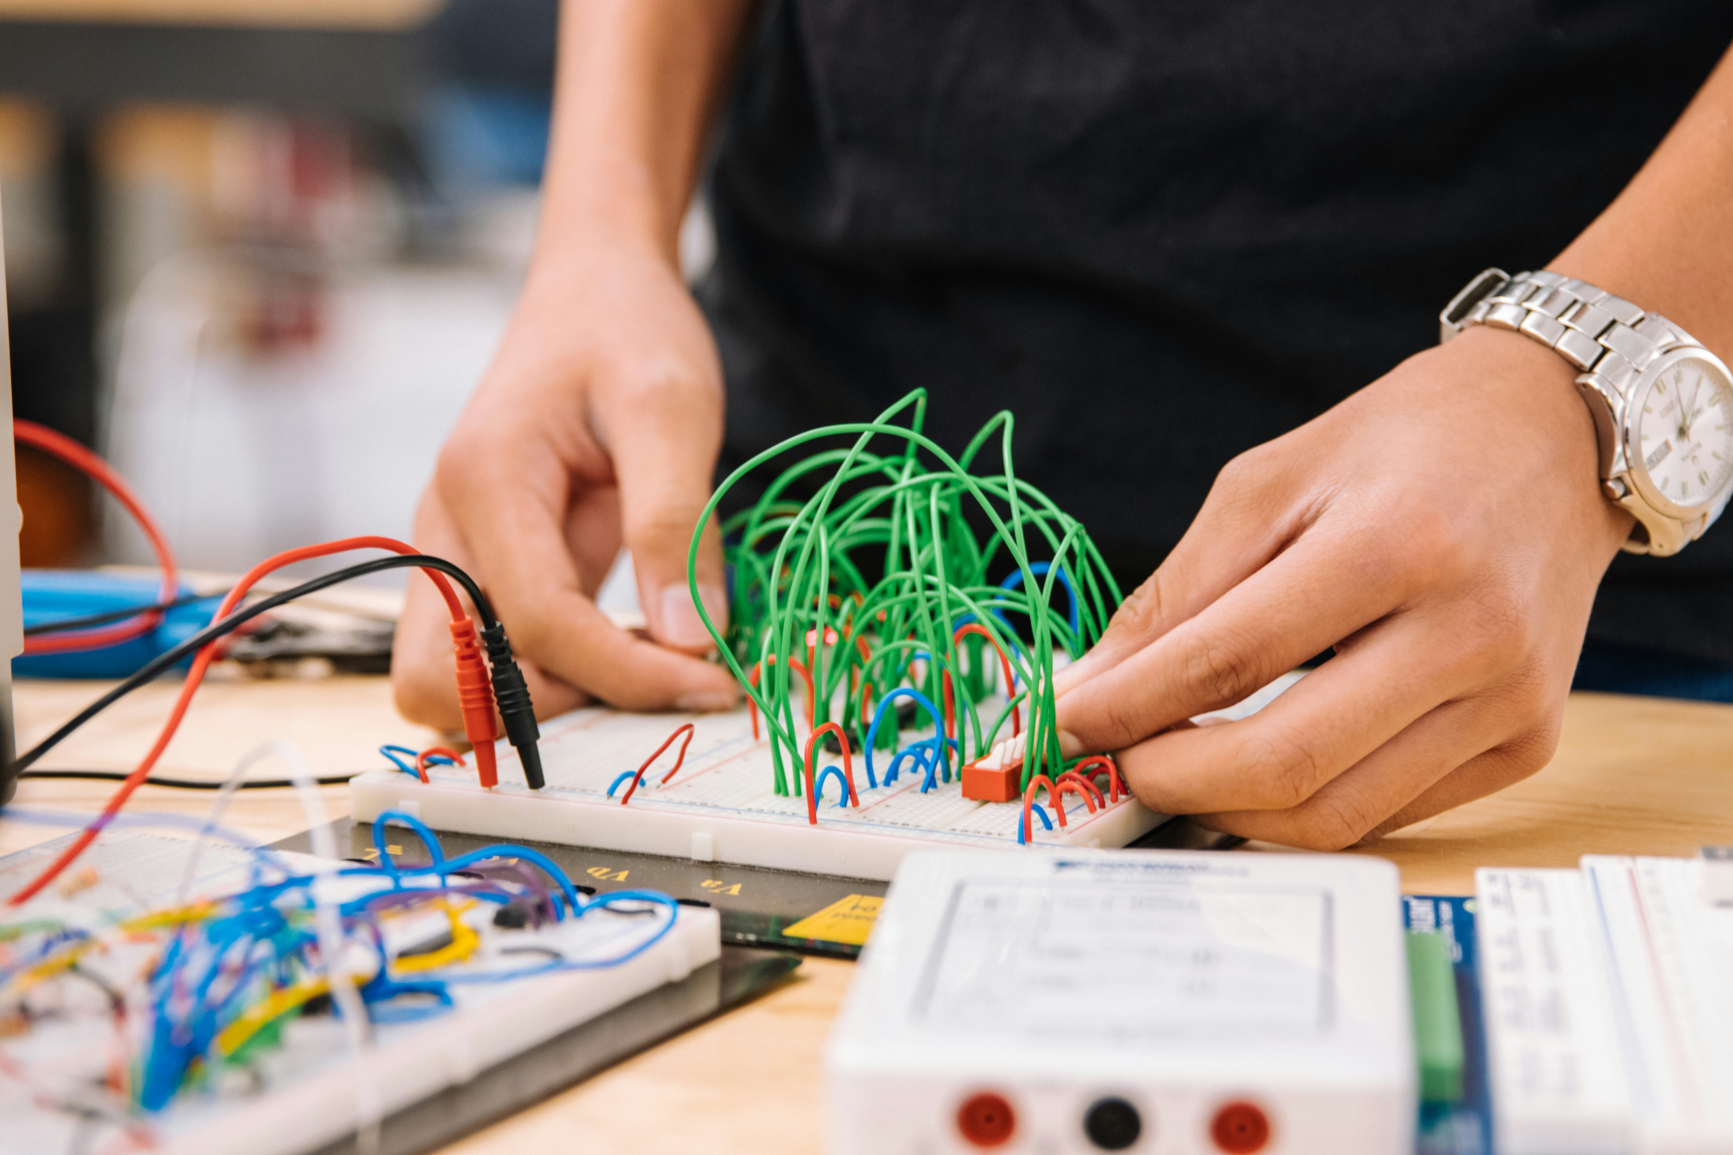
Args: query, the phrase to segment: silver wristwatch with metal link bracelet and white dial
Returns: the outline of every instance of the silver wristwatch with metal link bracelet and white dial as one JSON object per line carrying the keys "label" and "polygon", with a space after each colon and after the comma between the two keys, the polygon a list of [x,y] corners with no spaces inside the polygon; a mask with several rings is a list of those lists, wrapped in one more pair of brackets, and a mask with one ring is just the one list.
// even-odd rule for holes
{"label": "silver wristwatch with metal link bracelet and white dial", "polygon": [[1660,313],[1555,272],[1489,268],[1438,313],[1438,339],[1515,329],[1580,369],[1601,490],[1636,514],[1624,549],[1676,554],[1733,495],[1733,374]]}

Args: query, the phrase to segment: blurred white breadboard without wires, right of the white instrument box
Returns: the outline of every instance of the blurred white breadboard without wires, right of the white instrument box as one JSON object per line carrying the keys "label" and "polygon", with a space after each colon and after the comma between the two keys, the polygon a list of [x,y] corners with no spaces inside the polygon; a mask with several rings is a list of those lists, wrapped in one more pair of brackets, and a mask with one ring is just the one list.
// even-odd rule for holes
{"label": "blurred white breadboard without wires, right of the white instrument box", "polygon": [[1499,1155],[1733,1152],[1733,907],[1698,871],[1477,871]]}

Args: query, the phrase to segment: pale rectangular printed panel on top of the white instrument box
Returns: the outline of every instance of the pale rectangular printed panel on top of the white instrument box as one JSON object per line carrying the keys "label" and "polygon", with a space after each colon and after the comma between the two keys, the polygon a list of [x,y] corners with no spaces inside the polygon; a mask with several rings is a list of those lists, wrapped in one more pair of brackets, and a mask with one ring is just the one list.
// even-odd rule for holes
{"label": "pale rectangular printed panel on top of the white instrument box", "polygon": [[1319,887],[960,881],[918,1011],[1073,1041],[1317,1036],[1334,985],[1329,907]]}

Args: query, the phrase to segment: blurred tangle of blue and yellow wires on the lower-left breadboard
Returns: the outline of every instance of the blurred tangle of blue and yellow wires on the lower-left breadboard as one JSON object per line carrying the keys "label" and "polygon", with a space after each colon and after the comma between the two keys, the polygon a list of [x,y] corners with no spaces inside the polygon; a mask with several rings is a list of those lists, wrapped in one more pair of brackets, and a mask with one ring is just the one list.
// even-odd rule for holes
{"label": "blurred tangle of blue and yellow wires on the lower-left breadboard", "polygon": [[[419,836],[430,862],[395,862],[386,823]],[[62,921],[64,906],[0,923],[0,1011],[14,1032],[64,1022],[76,1013],[64,990],[45,990],[40,1003],[52,1010],[45,1016],[33,1015],[33,992],[66,978],[92,984],[102,994],[101,1013],[113,1016],[118,1048],[106,1086],[92,1093],[113,1096],[109,1115],[125,1120],[161,1112],[184,1093],[215,1089],[215,1072],[251,1065],[284,1042],[289,1020],[329,1013],[333,996],[336,1010],[348,999],[374,1025],[435,1016],[456,1006],[461,985],[629,963],[679,918],[679,904],[653,890],[586,899],[532,847],[501,843],[445,857],[435,835],[402,812],[381,816],[373,835],[376,864],[326,861],[308,871],[305,859],[255,850],[250,871],[217,897],[182,894],[168,906],[83,925]],[[189,881],[196,855],[198,849]],[[489,918],[508,907],[525,918]],[[622,918],[584,930],[596,913]],[[641,921],[646,913],[652,921]],[[326,930],[315,925],[321,914],[333,919]],[[492,930],[539,932],[572,919],[581,923],[572,933],[499,939]],[[445,935],[430,940],[430,928]],[[99,966],[78,973],[85,961]],[[121,990],[128,982],[139,984],[135,997]],[[127,1022],[130,1008],[142,1011],[142,1022]]]}

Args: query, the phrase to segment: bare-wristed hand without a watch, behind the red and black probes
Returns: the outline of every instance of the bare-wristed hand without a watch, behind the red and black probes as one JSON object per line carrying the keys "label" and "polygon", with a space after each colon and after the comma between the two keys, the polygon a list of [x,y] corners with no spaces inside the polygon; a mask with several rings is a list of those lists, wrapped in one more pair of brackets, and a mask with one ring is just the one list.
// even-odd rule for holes
{"label": "bare-wristed hand without a watch, behind the red and black probes", "polygon": [[[738,696],[686,587],[691,530],[723,438],[716,345],[669,261],[626,242],[537,267],[494,365],[438,457],[414,544],[468,570],[506,625],[535,713],[601,700],[724,710]],[[633,554],[650,637],[617,629],[596,589]],[[716,523],[698,589],[728,620]],[[392,653],[404,717],[461,726],[447,613],[409,584]]]}

